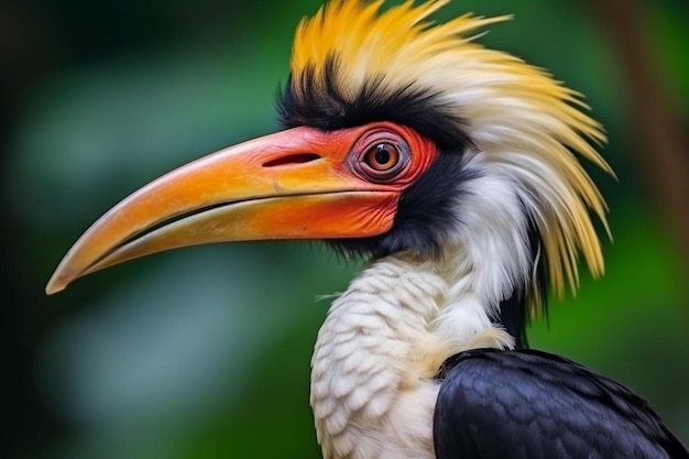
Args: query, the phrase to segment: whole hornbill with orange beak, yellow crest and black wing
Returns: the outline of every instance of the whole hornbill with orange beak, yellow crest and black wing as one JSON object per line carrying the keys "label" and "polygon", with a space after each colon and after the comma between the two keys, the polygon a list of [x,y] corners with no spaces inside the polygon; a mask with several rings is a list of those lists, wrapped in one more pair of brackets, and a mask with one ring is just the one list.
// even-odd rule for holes
{"label": "whole hornbill with orange beak, yellow crest and black wing", "polygon": [[296,31],[284,130],[150,183],[96,221],[47,293],[150,253],[325,239],[370,259],[311,361],[324,457],[689,458],[647,403],[529,350],[548,288],[603,271],[611,172],[581,97],[477,43],[508,17],[428,17],[446,0],[331,0]]}

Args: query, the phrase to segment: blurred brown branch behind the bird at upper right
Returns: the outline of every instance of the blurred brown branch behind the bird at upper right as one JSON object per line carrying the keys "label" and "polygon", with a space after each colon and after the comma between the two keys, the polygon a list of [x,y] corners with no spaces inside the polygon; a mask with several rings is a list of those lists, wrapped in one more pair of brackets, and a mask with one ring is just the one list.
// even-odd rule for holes
{"label": "blurred brown branch behind the bird at upper right", "polygon": [[[608,33],[626,79],[631,127],[637,147],[631,152],[639,176],[663,212],[682,250],[689,272],[689,139],[680,128],[676,107],[650,53],[650,31],[644,21],[648,3],[638,0],[590,0],[600,26]],[[689,281],[689,280],[688,280]]]}

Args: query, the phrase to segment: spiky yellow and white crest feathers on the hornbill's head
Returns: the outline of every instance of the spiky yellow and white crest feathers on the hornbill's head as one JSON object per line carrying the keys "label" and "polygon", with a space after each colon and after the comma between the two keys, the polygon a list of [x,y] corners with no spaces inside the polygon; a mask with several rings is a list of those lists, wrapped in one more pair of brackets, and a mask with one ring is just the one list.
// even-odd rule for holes
{"label": "spiky yellow and white crest feathers on the hornbill's head", "polygon": [[[330,129],[402,117],[398,121],[441,143],[468,135],[464,147],[475,145],[518,187],[555,291],[567,284],[576,291],[580,253],[593,275],[603,272],[589,209],[608,230],[605,203],[577,154],[611,172],[593,146],[605,135],[579,94],[547,72],[475,42],[480,29],[510,17],[430,22],[448,1],[407,1],[381,12],[382,0],[332,0],[304,19],[287,85],[291,103],[300,109],[283,108],[283,120],[313,120]],[[387,103],[394,97],[400,103]],[[320,98],[328,103],[317,103]],[[409,107],[416,102],[423,112]],[[532,287],[529,303],[537,310],[545,298]]]}

